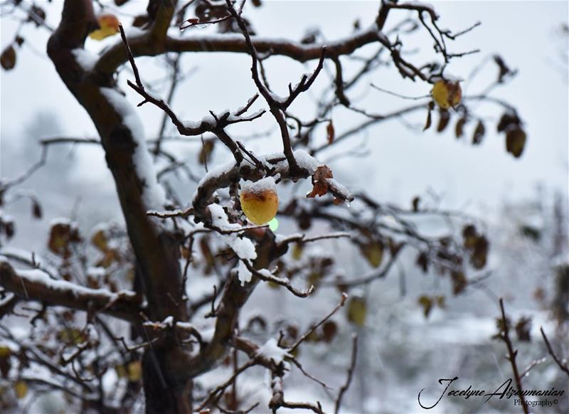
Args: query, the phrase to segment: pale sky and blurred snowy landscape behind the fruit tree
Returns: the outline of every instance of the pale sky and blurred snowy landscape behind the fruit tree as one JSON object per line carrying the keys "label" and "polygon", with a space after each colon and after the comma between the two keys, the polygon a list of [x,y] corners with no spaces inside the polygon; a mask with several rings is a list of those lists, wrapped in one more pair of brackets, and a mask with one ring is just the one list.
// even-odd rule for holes
{"label": "pale sky and blurred snowy landscape behind the fruit tree", "polygon": [[[38,2],[44,3],[44,2]],[[132,1],[130,9],[141,9],[143,1]],[[363,27],[371,23],[378,9],[377,1],[264,1],[259,9],[249,8],[247,16],[254,22],[260,36],[299,39],[307,28],[317,27],[323,39],[334,40],[353,30],[353,22]],[[47,4],[46,4],[47,6]],[[56,26],[61,2],[48,5],[48,23]],[[129,9],[130,8],[130,9]],[[495,318],[499,315],[498,297],[506,299],[511,319],[531,317],[531,341],[519,343],[519,364],[528,366],[533,360],[546,356],[539,335],[543,325],[550,339],[562,344],[569,355],[567,331],[559,334],[552,318],[555,297],[555,265],[567,260],[568,223],[568,63],[567,33],[562,25],[567,22],[566,1],[437,1],[442,26],[454,31],[481,21],[482,26],[462,36],[452,47],[466,51],[481,49],[481,53],[456,60],[450,73],[466,79],[479,63],[499,53],[511,68],[519,70],[516,78],[496,92],[513,103],[526,124],[528,143],[520,159],[506,154],[504,139],[493,128],[484,142],[472,147],[468,139],[454,139],[452,128],[443,134],[421,132],[425,113],[418,112],[404,119],[390,120],[371,127],[329,151],[319,155],[326,161],[334,176],[352,191],[365,189],[378,201],[410,206],[415,196],[422,196],[441,208],[459,210],[477,217],[484,223],[491,243],[489,269],[491,274],[479,288],[469,287],[464,294],[452,297],[450,283],[437,275],[423,275],[415,267],[415,257],[408,255],[383,280],[361,292],[368,302],[365,327],[357,328],[360,350],[355,380],[346,395],[346,412],[351,413],[411,413],[421,412],[417,395],[427,387],[428,400],[440,395],[439,378],[459,376],[459,386],[466,388],[496,388],[511,376],[504,359],[505,347],[491,339],[496,333]],[[126,14],[126,16],[124,15]],[[121,14],[119,14],[121,16]],[[400,14],[401,18],[405,13]],[[397,23],[394,18],[391,24]],[[11,41],[16,22],[4,19],[1,23],[1,46]],[[210,29],[198,29],[208,31]],[[425,33],[415,35],[416,57],[430,53],[430,38]],[[65,89],[46,57],[44,48],[48,33],[28,28],[26,43],[18,50],[16,69],[0,73],[1,87],[1,141],[0,174],[11,177],[39,159],[39,139],[47,137],[96,137],[95,128],[83,109]],[[117,41],[87,40],[86,48],[97,52]],[[366,48],[358,53],[365,55]],[[168,84],[162,82],[164,62],[160,59],[137,60],[143,79],[156,92],[166,95]],[[266,64],[272,85],[283,92],[287,83],[312,68],[291,62],[287,58],[272,58]],[[243,104],[244,97],[254,93],[250,80],[250,63],[246,55],[219,53],[189,53],[181,59],[182,73],[188,73],[176,91],[173,106],[182,118],[199,119],[206,110],[223,110]],[[350,65],[346,64],[348,73]],[[230,76],[228,76],[228,73]],[[496,77],[494,65],[484,65],[477,78],[468,84],[467,93],[475,93]],[[138,102],[126,86],[132,78],[123,70],[119,84],[132,102]],[[324,76],[322,77],[324,78]],[[324,85],[317,82],[314,90]],[[369,81],[379,87],[403,95],[425,95],[428,87],[422,83],[401,80],[393,68],[380,69]],[[371,90],[363,82],[353,94],[361,96],[361,106],[383,113],[403,107],[407,102]],[[312,90],[311,90],[312,91]],[[304,94],[294,111],[312,115],[312,99],[316,92]],[[147,137],[154,137],[159,129],[161,113],[145,105],[138,109]],[[501,112],[485,107],[484,115],[497,120]],[[494,112],[493,112],[494,111]],[[309,118],[307,115],[307,118]],[[334,110],[336,134],[361,122],[361,117],[342,110]],[[418,129],[410,128],[418,125]],[[280,149],[280,139],[270,118],[235,127],[235,135],[247,136],[272,132],[270,137],[248,140],[248,148],[257,154]],[[322,126],[321,140],[326,133]],[[169,134],[174,134],[171,128]],[[201,142],[193,145],[169,144],[176,154],[187,159],[193,174],[203,174],[203,166],[196,160]],[[366,156],[344,156],[353,149],[363,150]],[[230,155],[216,147],[210,166],[230,159]],[[172,177],[171,186],[181,200],[189,201],[196,184],[187,177]],[[308,184],[295,184],[292,191],[302,193]],[[48,223],[53,218],[65,217],[78,221],[83,233],[103,221],[121,223],[119,206],[112,178],[106,168],[102,149],[97,146],[60,146],[50,149],[48,161],[37,174],[26,182],[26,189],[34,191],[43,204],[43,219],[30,219],[29,201],[21,199],[6,206],[16,220],[16,236],[7,246],[23,247],[43,253],[46,250]],[[557,213],[555,213],[557,211]],[[436,231],[441,223],[430,223]],[[319,228],[313,228],[314,233]],[[281,221],[279,233],[296,233],[294,223]],[[345,248],[340,242],[324,243],[318,247],[321,255],[334,252],[346,272],[361,274],[368,270],[361,255]],[[314,252],[313,252],[314,253]],[[211,280],[196,277],[189,292],[211,289]],[[418,305],[421,294],[446,296],[444,309],[433,309],[425,318]],[[243,310],[243,319],[263,314],[269,327],[259,333],[265,340],[280,327],[284,317],[301,327],[322,317],[328,308],[322,307],[318,297],[330,297],[333,304],[338,296],[333,289],[323,288],[317,299],[297,299],[267,286],[257,288]],[[321,299],[321,298],[320,298]],[[270,311],[264,310],[270,309]],[[272,314],[272,320],[270,315]],[[354,329],[344,312],[334,317],[339,334],[331,344],[304,346],[301,359],[305,368],[330,386],[344,381],[349,365],[350,335]],[[557,334],[555,333],[557,332]],[[261,370],[252,370],[241,380],[240,387],[251,401],[263,397],[265,388]],[[223,368],[208,373],[203,384],[223,377]],[[324,409],[326,390],[296,374],[287,378],[288,395],[292,399],[319,398]],[[564,388],[569,391],[567,377],[563,378],[551,358],[539,363],[527,378],[528,386],[537,388]],[[436,398],[435,398],[436,396]],[[55,404],[50,406],[50,404]],[[53,408],[55,407],[55,408]],[[45,403],[41,410],[56,410],[57,404]],[[39,408],[38,408],[39,409]],[[569,409],[568,398],[553,408],[536,408],[533,412],[563,413]],[[511,400],[462,400],[445,398],[430,412],[437,413],[510,413],[518,412]],[[262,413],[262,410],[259,411]]]}

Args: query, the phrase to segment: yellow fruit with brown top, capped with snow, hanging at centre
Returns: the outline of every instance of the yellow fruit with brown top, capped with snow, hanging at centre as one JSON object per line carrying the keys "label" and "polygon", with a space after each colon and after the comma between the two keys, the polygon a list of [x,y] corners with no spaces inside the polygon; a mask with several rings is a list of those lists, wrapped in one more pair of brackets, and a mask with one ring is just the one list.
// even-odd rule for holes
{"label": "yellow fruit with brown top, capped with snow, hanging at centre", "polygon": [[277,215],[279,196],[272,177],[244,184],[240,192],[241,208],[245,216],[256,225],[268,223]]}

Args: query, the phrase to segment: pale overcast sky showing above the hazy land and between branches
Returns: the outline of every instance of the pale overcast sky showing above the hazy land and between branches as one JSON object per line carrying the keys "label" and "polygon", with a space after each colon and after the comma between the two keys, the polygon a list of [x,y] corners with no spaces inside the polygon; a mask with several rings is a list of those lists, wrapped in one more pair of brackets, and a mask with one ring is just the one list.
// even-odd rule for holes
{"label": "pale overcast sky showing above the hazy land and between branches", "polygon": [[[41,2],[46,3],[46,2]],[[56,26],[63,1],[48,5],[48,21]],[[130,9],[144,9],[144,1],[132,1]],[[385,122],[372,127],[367,132],[353,137],[345,144],[321,153],[326,161],[331,156],[365,145],[369,155],[366,158],[331,161],[336,176],[352,189],[366,187],[381,200],[408,203],[413,196],[425,193],[427,189],[444,196],[445,206],[459,208],[469,206],[498,206],[504,199],[516,199],[533,194],[536,184],[546,184],[554,189],[567,191],[568,186],[568,83],[567,65],[563,63],[561,52],[567,47],[559,34],[561,23],[568,18],[567,1],[436,1],[435,8],[440,14],[440,26],[452,31],[460,31],[481,21],[474,31],[450,43],[452,51],[481,49],[481,53],[454,60],[448,73],[467,78],[470,71],[481,60],[493,53],[504,57],[511,68],[517,68],[519,75],[508,85],[498,87],[493,94],[516,106],[526,124],[528,142],[521,159],[507,154],[504,137],[496,134],[495,124],[503,112],[501,108],[484,105],[480,113],[489,119],[486,139],[479,147],[469,144],[472,135],[471,125],[467,138],[454,139],[454,128],[449,127],[445,134],[435,132],[414,132],[405,128],[399,120]],[[245,16],[253,22],[261,36],[287,37],[299,39],[307,27],[319,27],[326,40],[334,40],[353,30],[353,21],[359,19],[364,28],[371,24],[378,9],[377,1],[264,1],[260,9],[250,4],[245,8]],[[407,16],[405,11],[393,11],[388,27]],[[130,21],[124,17],[123,21]],[[16,29],[10,18],[3,19],[1,25],[1,46],[4,48]],[[193,29],[185,36],[199,36],[209,29]],[[23,31],[25,46],[18,50],[18,63],[11,72],[0,73],[1,82],[1,148],[21,141],[20,135],[30,123],[30,117],[37,112],[48,112],[58,120],[58,134],[70,137],[94,137],[95,128],[85,111],[66,90],[55,73],[52,63],[44,50],[48,33],[43,29],[28,27]],[[86,48],[98,51],[100,48],[119,39],[106,39],[103,42],[87,40]],[[405,38],[404,38],[405,41]],[[410,55],[413,61],[424,61],[422,57],[431,55],[432,42],[422,30],[409,39],[409,48],[421,48],[419,53]],[[412,46],[413,45],[413,46]],[[373,48],[363,48],[358,55],[373,52]],[[142,78],[151,83],[160,78],[161,61],[150,58],[139,59]],[[272,86],[277,92],[284,92],[287,83],[297,82],[302,73],[314,68],[315,62],[307,65],[294,63],[288,58],[272,58],[267,71]],[[208,110],[223,110],[243,105],[255,88],[250,80],[250,60],[246,55],[213,55],[209,53],[188,54],[182,63],[184,70],[196,70],[176,93],[174,109],[181,117],[198,120]],[[346,63],[346,72],[351,66]],[[477,93],[496,77],[497,69],[493,63],[486,65],[477,81],[469,85],[468,93]],[[124,73],[120,85],[126,90],[126,79],[132,78]],[[306,94],[292,107],[297,115],[307,114],[310,119],[312,97],[321,85],[327,82],[321,75],[320,83],[314,85],[314,92]],[[364,81],[353,96],[362,96],[358,102],[370,112],[390,112],[409,105],[408,101],[390,97],[368,87],[369,82],[406,95],[425,95],[430,86],[401,80],[397,71],[382,68]],[[166,85],[164,85],[165,87]],[[158,88],[164,92],[164,87]],[[132,102],[138,98],[129,93]],[[165,92],[164,92],[165,94]],[[414,103],[414,102],[411,102]],[[257,104],[258,107],[261,102]],[[156,134],[161,114],[150,105],[139,109],[147,129],[147,137]],[[405,118],[406,122],[421,124],[426,111]],[[365,120],[346,110],[333,113],[336,134],[351,125]],[[435,117],[436,120],[436,117]],[[235,129],[235,134],[248,134],[265,131],[272,127],[270,117],[261,122],[248,124]],[[255,129],[252,129],[255,128]],[[38,137],[40,138],[40,137]],[[324,142],[324,130],[321,133]],[[248,143],[257,153],[280,149],[280,139],[259,139]],[[193,147],[194,152],[197,147]],[[30,152],[38,148],[29,147]],[[22,169],[19,161],[5,156],[2,151],[2,175],[15,174]],[[111,176],[108,173],[102,151],[90,148],[77,153],[81,169],[73,169],[67,174],[86,184],[86,188],[112,191]],[[32,157],[33,158],[33,157]],[[192,157],[192,159],[195,159]],[[229,159],[221,147],[216,151],[214,162]],[[85,168],[83,168],[85,167]],[[196,166],[195,171],[199,170]],[[64,171],[65,172],[65,171]],[[99,191],[97,190],[97,191]]]}

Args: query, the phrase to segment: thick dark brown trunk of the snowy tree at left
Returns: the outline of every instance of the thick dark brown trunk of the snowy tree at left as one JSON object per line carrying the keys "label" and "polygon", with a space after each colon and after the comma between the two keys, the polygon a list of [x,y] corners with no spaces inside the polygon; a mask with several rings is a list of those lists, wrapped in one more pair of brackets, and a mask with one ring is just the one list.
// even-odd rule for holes
{"label": "thick dark brown trunk of the snowy tree at left", "polygon": [[[142,198],[146,184],[137,175],[134,153],[137,145],[144,144],[144,137],[132,136],[134,131],[125,122],[124,112],[102,92],[101,87],[115,88],[112,73],[87,73],[73,53],[83,48],[87,34],[95,27],[91,0],[66,0],[60,25],[48,42],[48,55],[100,134],[147,297],[147,316],[154,321],[169,316],[185,321],[188,312],[182,300],[179,239],[151,221]],[[175,337],[169,337],[144,353],[148,413],[191,413],[192,382],[184,369],[185,351]]]}

